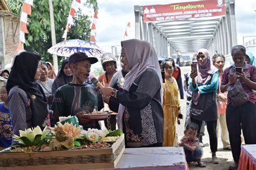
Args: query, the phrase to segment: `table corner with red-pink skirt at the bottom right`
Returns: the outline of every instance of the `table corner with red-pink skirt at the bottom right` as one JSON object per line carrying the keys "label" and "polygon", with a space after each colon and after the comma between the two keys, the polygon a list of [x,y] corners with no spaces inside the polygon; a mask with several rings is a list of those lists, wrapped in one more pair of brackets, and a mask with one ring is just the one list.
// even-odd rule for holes
{"label": "table corner with red-pink skirt at the bottom right", "polygon": [[256,145],[241,146],[241,154],[238,169],[251,170],[256,169]]}

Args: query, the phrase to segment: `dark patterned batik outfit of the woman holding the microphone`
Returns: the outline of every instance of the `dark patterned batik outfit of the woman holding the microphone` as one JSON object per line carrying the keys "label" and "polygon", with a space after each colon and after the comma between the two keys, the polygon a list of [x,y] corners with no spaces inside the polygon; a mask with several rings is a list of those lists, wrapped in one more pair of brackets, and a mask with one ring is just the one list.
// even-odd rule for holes
{"label": "dark patterned batik outfit of the woman holding the microphone", "polygon": [[[121,90],[110,97],[110,108],[117,112],[119,103],[126,108],[123,132],[126,147],[142,147],[162,143],[164,112],[160,97],[161,84],[157,72],[146,70],[136,78],[129,91]],[[116,102],[118,101],[118,102]]]}

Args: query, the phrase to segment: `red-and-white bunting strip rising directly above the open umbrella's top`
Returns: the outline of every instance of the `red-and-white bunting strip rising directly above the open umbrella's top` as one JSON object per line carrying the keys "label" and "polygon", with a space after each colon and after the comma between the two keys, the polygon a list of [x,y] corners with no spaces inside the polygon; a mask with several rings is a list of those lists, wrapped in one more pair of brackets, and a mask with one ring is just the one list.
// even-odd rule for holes
{"label": "red-and-white bunting strip rising directly above the open umbrella's top", "polygon": [[75,17],[75,12],[79,9],[81,1],[80,0],[73,0],[71,4],[71,8],[69,11],[69,17],[68,17],[68,22],[66,23],[66,29],[63,33],[62,38],[66,40],[68,37],[68,32],[69,32],[69,25],[73,25],[73,17]]}

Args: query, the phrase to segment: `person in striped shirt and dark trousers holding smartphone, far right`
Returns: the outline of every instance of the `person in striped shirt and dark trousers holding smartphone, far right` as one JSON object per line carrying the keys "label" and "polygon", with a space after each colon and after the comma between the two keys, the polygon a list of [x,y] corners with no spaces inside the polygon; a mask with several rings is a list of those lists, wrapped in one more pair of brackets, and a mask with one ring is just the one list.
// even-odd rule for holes
{"label": "person in striped shirt and dark trousers holding smartphone, far right", "polygon": [[[246,103],[241,106],[234,106],[231,102],[231,94],[227,93],[226,121],[234,158],[234,164],[230,166],[230,169],[236,169],[238,168],[241,151],[241,130],[244,134],[245,144],[256,144],[256,133],[254,132],[256,129],[256,69],[253,65],[246,64],[246,49],[244,46],[233,46],[231,56],[234,65],[224,70],[221,92],[226,92],[228,86],[239,81],[242,89],[249,97]],[[231,69],[235,73],[230,73]]]}

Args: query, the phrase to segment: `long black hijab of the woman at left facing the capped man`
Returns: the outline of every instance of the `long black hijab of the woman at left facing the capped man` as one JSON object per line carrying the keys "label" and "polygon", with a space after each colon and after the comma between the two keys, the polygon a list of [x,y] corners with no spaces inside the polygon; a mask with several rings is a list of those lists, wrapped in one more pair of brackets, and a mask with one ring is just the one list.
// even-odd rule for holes
{"label": "long black hijab of the woman at left facing the capped man", "polygon": [[40,126],[42,128],[42,124],[49,111],[44,91],[35,80],[40,60],[41,56],[32,52],[22,52],[16,56],[6,84],[6,90],[9,93],[12,87],[18,86],[25,91],[30,99],[32,127]]}

